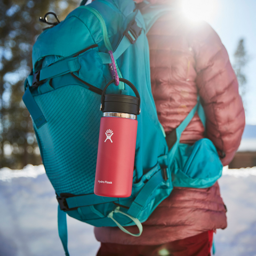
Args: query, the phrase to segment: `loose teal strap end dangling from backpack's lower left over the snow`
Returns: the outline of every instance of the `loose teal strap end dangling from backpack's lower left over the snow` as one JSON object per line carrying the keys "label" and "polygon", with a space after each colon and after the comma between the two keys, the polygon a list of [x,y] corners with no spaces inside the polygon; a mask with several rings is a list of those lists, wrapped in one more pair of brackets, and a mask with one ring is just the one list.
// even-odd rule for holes
{"label": "loose teal strap end dangling from backpack's lower left over the snow", "polygon": [[60,210],[58,205],[58,231],[65,255],[69,256],[68,252],[68,228],[67,228],[67,216],[66,212]]}

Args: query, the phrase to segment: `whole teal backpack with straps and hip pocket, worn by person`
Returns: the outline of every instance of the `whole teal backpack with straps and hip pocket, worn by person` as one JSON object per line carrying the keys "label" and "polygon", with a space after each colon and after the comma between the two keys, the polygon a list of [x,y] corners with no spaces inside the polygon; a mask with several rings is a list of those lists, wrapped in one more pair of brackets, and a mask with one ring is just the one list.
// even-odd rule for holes
{"label": "whole teal backpack with straps and hip pocket, worn by person", "polygon": [[[85,2],[85,1],[83,1]],[[96,0],[81,5],[37,38],[33,70],[25,81],[23,101],[33,119],[46,174],[59,202],[58,227],[66,255],[66,214],[90,225],[118,226],[140,236],[148,219],[173,186],[206,188],[220,177],[222,165],[209,139],[181,144],[182,131],[196,111],[205,125],[199,102],[169,135],[158,121],[151,93],[147,31],[170,6],[147,1]],[[132,195],[127,198],[93,194],[101,111],[100,98],[113,79],[113,51],[118,86],[107,93],[141,97]],[[125,226],[138,226],[131,234]]]}

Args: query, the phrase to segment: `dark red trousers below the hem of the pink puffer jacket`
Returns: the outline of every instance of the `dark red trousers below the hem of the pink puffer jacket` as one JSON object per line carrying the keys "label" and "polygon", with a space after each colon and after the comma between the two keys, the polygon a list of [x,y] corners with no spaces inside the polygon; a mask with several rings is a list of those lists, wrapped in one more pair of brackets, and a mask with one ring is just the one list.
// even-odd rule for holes
{"label": "dark red trousers below the hem of the pink puffer jacket", "polygon": [[213,230],[160,245],[102,243],[97,256],[210,256]]}

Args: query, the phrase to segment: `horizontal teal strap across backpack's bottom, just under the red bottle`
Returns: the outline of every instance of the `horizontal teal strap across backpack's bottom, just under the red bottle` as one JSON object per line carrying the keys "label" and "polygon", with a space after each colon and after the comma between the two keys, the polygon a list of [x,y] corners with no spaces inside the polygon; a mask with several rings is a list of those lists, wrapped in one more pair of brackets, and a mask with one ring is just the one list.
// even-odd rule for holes
{"label": "horizontal teal strap across backpack's bottom, just under the red bottle", "polygon": [[93,205],[93,204],[109,203],[117,200],[118,198],[115,198],[115,197],[97,196],[95,194],[66,198],[66,202],[70,209],[75,207]]}

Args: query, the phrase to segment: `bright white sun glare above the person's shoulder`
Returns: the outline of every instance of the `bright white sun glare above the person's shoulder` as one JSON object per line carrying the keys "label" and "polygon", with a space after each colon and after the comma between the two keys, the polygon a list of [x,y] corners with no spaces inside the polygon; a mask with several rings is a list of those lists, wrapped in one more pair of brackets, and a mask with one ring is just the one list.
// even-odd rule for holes
{"label": "bright white sun glare above the person's shoulder", "polygon": [[182,0],[181,9],[190,20],[209,21],[217,15],[218,0]]}

